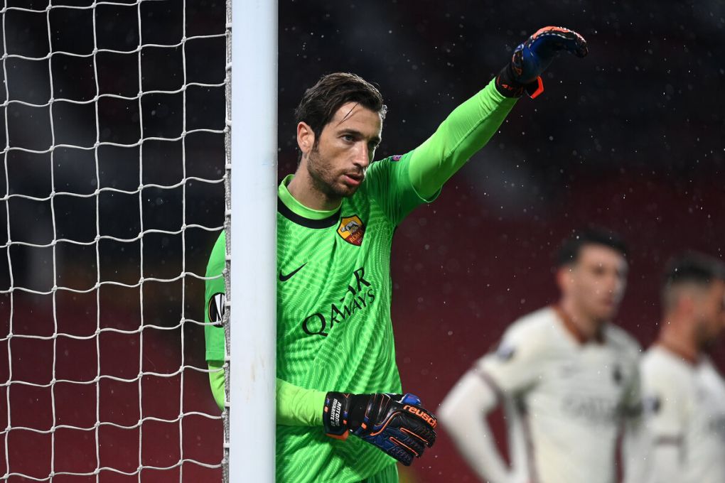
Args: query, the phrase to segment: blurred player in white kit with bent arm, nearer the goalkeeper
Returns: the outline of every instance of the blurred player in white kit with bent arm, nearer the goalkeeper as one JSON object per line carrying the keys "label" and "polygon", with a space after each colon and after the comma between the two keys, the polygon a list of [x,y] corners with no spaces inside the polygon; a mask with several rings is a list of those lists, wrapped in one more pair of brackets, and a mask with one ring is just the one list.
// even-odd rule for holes
{"label": "blurred player in white kit with bent arm, nearer the goalkeeper", "polygon": [[[613,232],[573,235],[558,253],[560,301],[513,322],[444,399],[439,421],[481,479],[615,482],[618,435],[641,412],[639,345],[610,323],[626,274],[624,243]],[[510,466],[485,417],[500,405]]]}

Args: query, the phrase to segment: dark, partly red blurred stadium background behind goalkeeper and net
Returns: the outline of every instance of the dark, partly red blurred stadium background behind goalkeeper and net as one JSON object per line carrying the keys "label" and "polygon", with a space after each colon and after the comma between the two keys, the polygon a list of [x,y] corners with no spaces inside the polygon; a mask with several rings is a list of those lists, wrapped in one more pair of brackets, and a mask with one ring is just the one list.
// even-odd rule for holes
{"label": "dark, partly red blurred stadium background behind goalkeeper and net", "polygon": [[[223,438],[202,372],[203,281],[187,275],[183,282],[145,282],[142,291],[94,284],[99,277],[127,285],[141,275],[169,279],[182,266],[204,274],[224,211],[218,180],[224,165],[219,34],[225,4],[118,3],[128,5],[47,13],[47,1],[4,3],[36,12],[5,13],[3,49],[9,56],[1,100],[48,102],[51,72],[56,101],[54,117],[48,106],[0,106],[0,122],[7,120],[0,146],[43,151],[4,152],[1,166],[0,227],[8,230],[0,230],[0,476],[11,471],[42,480],[51,471],[73,471],[88,476],[53,481],[138,482],[136,471],[144,466],[143,482],[218,482]],[[280,177],[296,167],[294,107],[320,75],[352,71],[380,85],[389,106],[380,158],[418,146],[537,28],[565,25],[589,40],[589,57],[557,59],[544,79],[544,95],[522,99],[439,199],[414,211],[397,232],[397,360],[403,387],[426,406],[435,408],[510,322],[557,300],[552,252],[572,230],[600,224],[629,243],[629,287],[616,322],[643,347],[658,330],[660,271],[668,257],[684,249],[723,257],[722,2],[279,5]],[[188,38],[197,37],[185,45],[186,72],[177,45],[182,25]],[[137,55],[139,43],[158,46]],[[51,47],[86,57],[49,60]],[[88,60],[94,47],[132,53],[101,51],[94,66]],[[183,81],[204,86],[190,86],[186,94],[147,94],[139,102],[133,98],[139,79],[144,91],[175,92]],[[94,104],[58,100],[94,98],[96,80],[101,93],[131,99],[102,99],[97,119]],[[184,146],[168,140],[180,136],[182,126],[217,132],[188,133]],[[97,162],[90,148],[44,151],[51,141],[91,148],[96,140],[133,144],[139,133],[166,140],[104,144]],[[140,182],[159,187],[133,193]],[[92,196],[47,198],[96,189],[105,190],[97,204]],[[182,224],[199,227],[183,237],[147,234],[143,246],[94,243],[97,234],[129,238],[141,227],[173,232]],[[88,245],[57,241],[63,238]],[[51,240],[57,244],[51,247]],[[53,297],[22,290],[54,285],[86,293],[58,290]],[[713,348],[721,369],[724,348]],[[500,419],[494,429],[501,435]],[[405,476],[418,482],[476,481],[444,430],[416,463]]]}

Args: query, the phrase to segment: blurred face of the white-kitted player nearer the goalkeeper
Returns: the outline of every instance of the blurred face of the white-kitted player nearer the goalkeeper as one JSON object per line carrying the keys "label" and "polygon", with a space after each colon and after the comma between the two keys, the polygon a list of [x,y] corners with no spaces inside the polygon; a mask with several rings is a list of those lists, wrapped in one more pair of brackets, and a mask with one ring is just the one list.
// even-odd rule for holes
{"label": "blurred face of the white-kitted player nearer the goalkeeper", "polygon": [[621,253],[605,245],[584,245],[576,261],[560,270],[561,289],[582,315],[597,322],[616,316],[627,276]]}

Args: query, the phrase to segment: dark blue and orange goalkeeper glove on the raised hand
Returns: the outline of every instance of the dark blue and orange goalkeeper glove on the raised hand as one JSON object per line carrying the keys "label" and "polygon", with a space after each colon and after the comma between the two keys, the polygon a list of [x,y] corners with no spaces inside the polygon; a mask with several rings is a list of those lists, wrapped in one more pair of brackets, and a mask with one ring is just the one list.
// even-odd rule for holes
{"label": "dark blue and orange goalkeeper glove on the raised hand", "polygon": [[577,57],[589,52],[584,37],[563,27],[544,27],[527,38],[513,51],[511,62],[496,77],[496,88],[502,96],[518,97],[524,92],[535,98],[544,92],[542,73],[559,51]]}

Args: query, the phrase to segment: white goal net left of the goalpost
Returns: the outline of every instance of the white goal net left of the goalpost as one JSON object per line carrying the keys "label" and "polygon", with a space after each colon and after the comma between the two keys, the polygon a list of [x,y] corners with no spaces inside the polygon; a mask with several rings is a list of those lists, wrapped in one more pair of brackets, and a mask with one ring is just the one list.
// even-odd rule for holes
{"label": "white goal net left of the goalpost", "polygon": [[1,5],[0,481],[218,482],[225,1]]}

